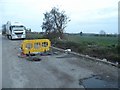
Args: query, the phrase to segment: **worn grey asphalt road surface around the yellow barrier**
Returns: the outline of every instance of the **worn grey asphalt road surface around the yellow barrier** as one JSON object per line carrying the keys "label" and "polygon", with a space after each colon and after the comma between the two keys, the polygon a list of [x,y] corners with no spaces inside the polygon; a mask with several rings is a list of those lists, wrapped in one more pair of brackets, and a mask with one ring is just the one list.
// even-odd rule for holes
{"label": "worn grey asphalt road surface around the yellow barrier", "polygon": [[2,88],[84,88],[80,80],[95,75],[117,85],[116,67],[60,52],[27,61],[17,56],[21,42],[2,36]]}

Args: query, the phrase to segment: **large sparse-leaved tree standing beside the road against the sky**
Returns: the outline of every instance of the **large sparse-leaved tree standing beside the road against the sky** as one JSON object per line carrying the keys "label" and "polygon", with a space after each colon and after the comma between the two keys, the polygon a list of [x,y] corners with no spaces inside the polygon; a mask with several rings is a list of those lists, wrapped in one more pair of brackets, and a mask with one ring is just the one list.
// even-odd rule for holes
{"label": "large sparse-leaved tree standing beside the road against the sky", "polygon": [[44,14],[42,30],[48,38],[63,38],[64,29],[66,28],[69,18],[65,11],[59,11],[54,7],[50,12]]}

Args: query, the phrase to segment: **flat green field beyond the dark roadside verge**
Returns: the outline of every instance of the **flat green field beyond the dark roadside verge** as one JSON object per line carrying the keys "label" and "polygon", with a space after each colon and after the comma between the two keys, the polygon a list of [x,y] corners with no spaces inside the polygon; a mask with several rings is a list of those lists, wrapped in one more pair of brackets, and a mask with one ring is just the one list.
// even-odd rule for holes
{"label": "flat green field beyond the dark roadside verge", "polygon": [[67,35],[68,41],[92,44],[99,46],[114,46],[118,43],[117,37],[107,36],[80,36],[80,35]]}

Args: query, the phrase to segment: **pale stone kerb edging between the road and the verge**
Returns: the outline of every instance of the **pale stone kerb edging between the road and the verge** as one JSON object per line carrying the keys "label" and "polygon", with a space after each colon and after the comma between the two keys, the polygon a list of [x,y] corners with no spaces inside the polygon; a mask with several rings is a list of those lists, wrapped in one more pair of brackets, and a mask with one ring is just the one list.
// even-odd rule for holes
{"label": "pale stone kerb edging between the road and the verge", "polygon": [[[56,49],[56,50],[61,51],[61,52],[66,52],[64,49],[61,49],[61,48],[57,48],[57,47],[53,47],[53,46],[51,46],[51,48]],[[107,60],[102,60],[102,59],[99,59],[99,58],[90,57],[88,55],[83,55],[83,54],[76,53],[76,52],[73,52],[73,51],[71,51],[69,53],[73,54],[73,55],[77,55],[77,56],[83,57],[83,58],[86,58],[86,59],[90,59],[92,61],[102,62],[102,63],[108,64],[108,65],[112,65],[112,66],[118,67],[118,64],[109,62]]]}

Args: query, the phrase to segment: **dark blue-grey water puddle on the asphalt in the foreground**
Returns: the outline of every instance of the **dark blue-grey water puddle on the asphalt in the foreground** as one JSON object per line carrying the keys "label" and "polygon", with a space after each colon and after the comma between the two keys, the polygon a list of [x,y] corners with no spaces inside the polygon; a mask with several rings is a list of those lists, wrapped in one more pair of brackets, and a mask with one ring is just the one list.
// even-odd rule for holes
{"label": "dark blue-grey water puddle on the asphalt in the foreground", "polygon": [[118,84],[102,80],[99,76],[80,81],[85,88],[117,88]]}

